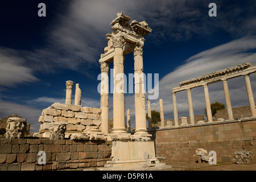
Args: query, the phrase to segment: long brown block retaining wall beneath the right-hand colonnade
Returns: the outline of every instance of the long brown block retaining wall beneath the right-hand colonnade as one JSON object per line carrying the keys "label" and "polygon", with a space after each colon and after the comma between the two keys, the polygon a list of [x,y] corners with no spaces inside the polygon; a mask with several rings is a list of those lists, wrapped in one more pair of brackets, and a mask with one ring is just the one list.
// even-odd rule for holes
{"label": "long brown block retaining wall beneath the right-hand colonnade", "polygon": [[218,162],[232,162],[234,152],[251,151],[256,159],[256,120],[213,122],[152,131],[156,156],[164,162],[196,162],[197,148],[216,151]]}

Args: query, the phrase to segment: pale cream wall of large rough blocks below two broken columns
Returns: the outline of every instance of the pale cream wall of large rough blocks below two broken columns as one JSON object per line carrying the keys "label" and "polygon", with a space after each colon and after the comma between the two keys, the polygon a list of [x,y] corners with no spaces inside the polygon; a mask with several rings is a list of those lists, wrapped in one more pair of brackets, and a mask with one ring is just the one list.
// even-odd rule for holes
{"label": "pale cream wall of large rough blocks below two broken columns", "polygon": [[[54,103],[42,111],[39,117],[39,137],[49,137],[51,122],[67,123],[66,136],[72,133],[87,133],[101,125],[101,109],[80,105]],[[101,129],[100,129],[101,130]]]}

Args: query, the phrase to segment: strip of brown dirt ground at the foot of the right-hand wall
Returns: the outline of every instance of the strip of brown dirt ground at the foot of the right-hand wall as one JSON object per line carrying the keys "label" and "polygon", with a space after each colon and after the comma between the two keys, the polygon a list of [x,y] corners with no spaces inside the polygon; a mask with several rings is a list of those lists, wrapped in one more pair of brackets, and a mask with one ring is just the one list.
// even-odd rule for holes
{"label": "strip of brown dirt ground at the foot of the right-hand wall", "polygon": [[236,164],[236,163],[171,163],[172,168],[164,171],[256,171],[256,163]]}

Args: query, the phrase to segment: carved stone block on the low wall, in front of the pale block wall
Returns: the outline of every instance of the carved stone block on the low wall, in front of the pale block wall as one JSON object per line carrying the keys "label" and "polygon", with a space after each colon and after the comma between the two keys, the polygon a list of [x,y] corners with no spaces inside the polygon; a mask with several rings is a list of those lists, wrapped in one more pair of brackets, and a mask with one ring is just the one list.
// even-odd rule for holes
{"label": "carved stone block on the low wall, in front of the pale block wall", "polygon": [[49,127],[49,139],[64,139],[67,123],[53,122]]}

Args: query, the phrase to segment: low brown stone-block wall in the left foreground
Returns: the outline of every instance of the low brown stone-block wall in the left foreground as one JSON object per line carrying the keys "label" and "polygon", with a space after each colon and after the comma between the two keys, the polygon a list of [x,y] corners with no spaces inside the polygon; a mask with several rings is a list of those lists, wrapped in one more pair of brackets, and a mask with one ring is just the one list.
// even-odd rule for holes
{"label": "low brown stone-block wall in the left foreground", "polygon": [[[112,141],[0,138],[0,171],[42,171],[102,167],[111,160]],[[39,151],[46,164],[39,164]]]}

